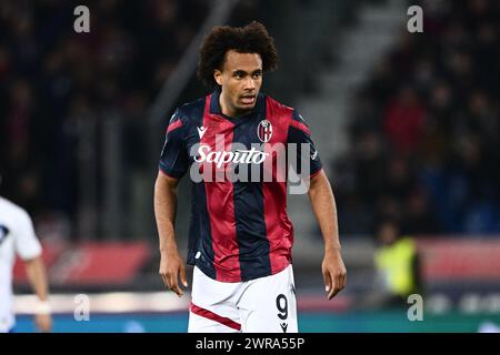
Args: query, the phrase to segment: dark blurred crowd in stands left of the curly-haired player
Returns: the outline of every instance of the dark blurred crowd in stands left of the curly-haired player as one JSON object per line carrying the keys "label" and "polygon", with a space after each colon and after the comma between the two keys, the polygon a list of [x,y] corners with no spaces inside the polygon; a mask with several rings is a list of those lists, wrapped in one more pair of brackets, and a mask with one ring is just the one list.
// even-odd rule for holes
{"label": "dark blurred crowd in stands left of the curly-haired player", "polygon": [[62,212],[70,224],[84,125],[119,112],[126,163],[143,168],[144,112],[208,10],[203,0],[94,1],[90,33],[77,34],[77,4],[0,2],[1,191],[38,219]]}

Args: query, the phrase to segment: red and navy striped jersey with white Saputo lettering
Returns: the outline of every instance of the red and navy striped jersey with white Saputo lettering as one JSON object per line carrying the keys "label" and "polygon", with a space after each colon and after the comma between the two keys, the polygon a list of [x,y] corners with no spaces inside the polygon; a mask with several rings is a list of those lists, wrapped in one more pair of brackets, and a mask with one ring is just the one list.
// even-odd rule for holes
{"label": "red and navy striped jersey with white Saputo lettering", "polygon": [[[294,163],[307,178],[322,164],[309,128],[296,110],[260,93],[251,113],[229,118],[221,112],[219,95],[216,90],[177,109],[159,168],[176,179],[189,172],[192,181],[188,264],[211,278],[240,282],[276,274],[291,263],[289,170],[281,169],[280,162]],[[290,153],[292,145],[297,154]],[[223,174],[230,166],[240,179]],[[217,179],[218,173],[222,179]]]}

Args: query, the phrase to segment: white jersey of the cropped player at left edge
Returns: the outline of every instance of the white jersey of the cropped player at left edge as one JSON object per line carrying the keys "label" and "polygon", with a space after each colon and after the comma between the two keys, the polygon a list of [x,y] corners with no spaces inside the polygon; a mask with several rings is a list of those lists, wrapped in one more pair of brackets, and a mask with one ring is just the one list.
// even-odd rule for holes
{"label": "white jersey of the cropped player at left edge", "polygon": [[31,260],[41,254],[29,214],[20,206],[0,197],[0,333],[14,325],[12,268],[16,255]]}

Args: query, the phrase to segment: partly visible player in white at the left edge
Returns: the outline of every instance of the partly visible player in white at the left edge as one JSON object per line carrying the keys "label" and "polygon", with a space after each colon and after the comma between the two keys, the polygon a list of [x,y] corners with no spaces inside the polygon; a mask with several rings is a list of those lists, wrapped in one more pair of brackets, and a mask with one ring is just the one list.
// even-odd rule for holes
{"label": "partly visible player in white at the left edge", "polygon": [[51,331],[52,317],[41,252],[28,213],[0,196],[0,333],[14,331],[12,267],[16,254],[23,260],[29,282],[38,296],[34,323],[41,332]]}

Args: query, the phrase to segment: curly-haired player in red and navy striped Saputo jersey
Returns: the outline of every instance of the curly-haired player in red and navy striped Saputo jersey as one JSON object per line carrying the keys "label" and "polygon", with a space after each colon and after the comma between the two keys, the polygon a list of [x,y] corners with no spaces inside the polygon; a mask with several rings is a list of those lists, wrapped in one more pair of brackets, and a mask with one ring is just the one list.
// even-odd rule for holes
{"label": "curly-haired player in red and navy striped Saputo jersey", "polygon": [[[324,240],[328,298],[346,285],[333,193],[309,128],[296,110],[260,92],[262,74],[274,70],[277,60],[273,39],[261,23],[213,28],[200,48],[198,77],[214,91],[178,108],[167,128],[154,187],[159,273],[166,286],[183,294],[179,277],[184,287],[188,283],[174,219],[178,182],[189,170],[192,333],[298,332],[293,226],[287,182],[278,179],[278,163],[294,159],[274,149],[280,144],[297,146],[296,156],[307,155],[296,168],[310,179],[308,194]],[[266,180],[269,164],[272,179]],[[259,173],[251,178],[257,180],[230,179],[256,168]]]}

